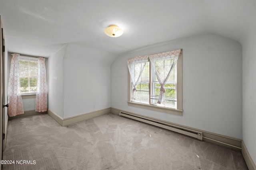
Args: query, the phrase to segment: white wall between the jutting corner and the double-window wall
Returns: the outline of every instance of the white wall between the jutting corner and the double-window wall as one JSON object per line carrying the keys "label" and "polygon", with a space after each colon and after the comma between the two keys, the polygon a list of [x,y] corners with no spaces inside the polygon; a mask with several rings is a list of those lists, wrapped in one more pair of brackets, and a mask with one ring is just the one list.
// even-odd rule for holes
{"label": "white wall between the jutting corner and the double-window wall", "polygon": [[108,53],[70,43],[64,56],[64,118],[110,107]]}

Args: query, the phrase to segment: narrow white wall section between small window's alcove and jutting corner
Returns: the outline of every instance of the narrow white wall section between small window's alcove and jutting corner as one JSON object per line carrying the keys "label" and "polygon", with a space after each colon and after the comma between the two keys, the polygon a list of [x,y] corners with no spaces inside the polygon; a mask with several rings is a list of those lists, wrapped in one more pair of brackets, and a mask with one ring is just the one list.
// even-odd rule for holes
{"label": "narrow white wall section between small window's alcove and jutting corner", "polygon": [[63,118],[63,58],[67,45],[48,58],[48,109]]}

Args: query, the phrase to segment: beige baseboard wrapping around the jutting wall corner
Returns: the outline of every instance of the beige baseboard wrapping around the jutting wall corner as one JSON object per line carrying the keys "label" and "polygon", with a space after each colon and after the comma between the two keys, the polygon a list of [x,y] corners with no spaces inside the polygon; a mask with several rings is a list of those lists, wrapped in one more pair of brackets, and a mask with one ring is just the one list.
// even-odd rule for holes
{"label": "beige baseboard wrapping around the jutting wall corner", "polygon": [[97,111],[92,111],[90,113],[84,113],[82,115],[77,115],[73,117],[68,117],[68,118],[61,118],[59,115],[48,109],[48,114],[56,121],[58,122],[61,126],[68,126],[72,125],[74,123],[78,123],[80,121],[84,121],[87,119],[91,119],[94,117],[98,117],[100,115],[104,115],[106,113],[110,113],[110,107],[106,109],[101,109]]}

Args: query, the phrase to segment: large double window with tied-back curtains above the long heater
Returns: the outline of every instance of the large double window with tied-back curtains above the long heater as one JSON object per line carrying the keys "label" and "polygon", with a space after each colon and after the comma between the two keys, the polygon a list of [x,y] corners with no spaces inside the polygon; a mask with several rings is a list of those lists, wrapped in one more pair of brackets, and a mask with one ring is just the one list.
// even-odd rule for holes
{"label": "large double window with tied-back curtains above the long heater", "polygon": [[182,115],[182,50],[128,59],[128,104]]}

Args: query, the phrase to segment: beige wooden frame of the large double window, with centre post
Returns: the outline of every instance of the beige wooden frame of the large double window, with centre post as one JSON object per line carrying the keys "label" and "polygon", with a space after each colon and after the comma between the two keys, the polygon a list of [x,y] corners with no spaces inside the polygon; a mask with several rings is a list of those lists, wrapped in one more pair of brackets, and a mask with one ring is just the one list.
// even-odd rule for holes
{"label": "beige wooden frame of the large double window, with centre post", "polygon": [[[149,80],[149,96],[152,92],[152,64],[149,61],[149,69],[150,69],[150,80]],[[164,113],[170,113],[174,115],[182,115],[182,50],[180,52],[180,55],[177,59],[176,63],[176,69],[177,69],[177,84],[176,84],[176,89],[177,89],[177,109],[172,108],[172,107],[164,107],[164,106],[157,106],[157,105],[152,105],[150,104],[151,100],[149,101],[149,104],[143,104],[143,103],[138,103],[138,102],[132,102],[131,101],[131,90],[132,90],[132,83],[131,83],[131,77],[130,77],[130,72],[128,69],[128,106],[134,106],[134,107],[140,107],[144,109],[150,109],[154,111],[160,111]]]}

